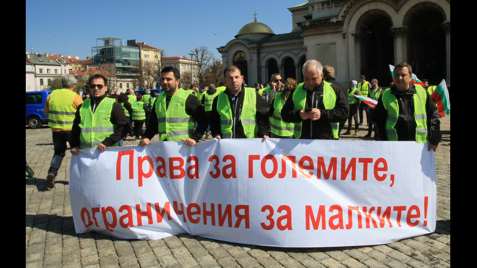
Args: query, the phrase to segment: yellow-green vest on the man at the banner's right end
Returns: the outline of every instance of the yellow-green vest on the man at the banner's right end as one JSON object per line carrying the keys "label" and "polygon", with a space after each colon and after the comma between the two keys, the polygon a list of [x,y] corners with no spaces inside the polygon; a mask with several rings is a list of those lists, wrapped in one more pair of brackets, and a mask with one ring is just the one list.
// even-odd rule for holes
{"label": "yellow-green vest on the man at the banner's right end", "polygon": [[[427,142],[427,115],[425,109],[426,92],[422,86],[415,84],[416,94],[414,101],[414,119],[416,121],[416,142]],[[383,105],[387,110],[386,136],[389,141],[397,141],[396,122],[399,116],[399,105],[396,97],[391,94],[391,89],[386,89],[383,93]]]}

